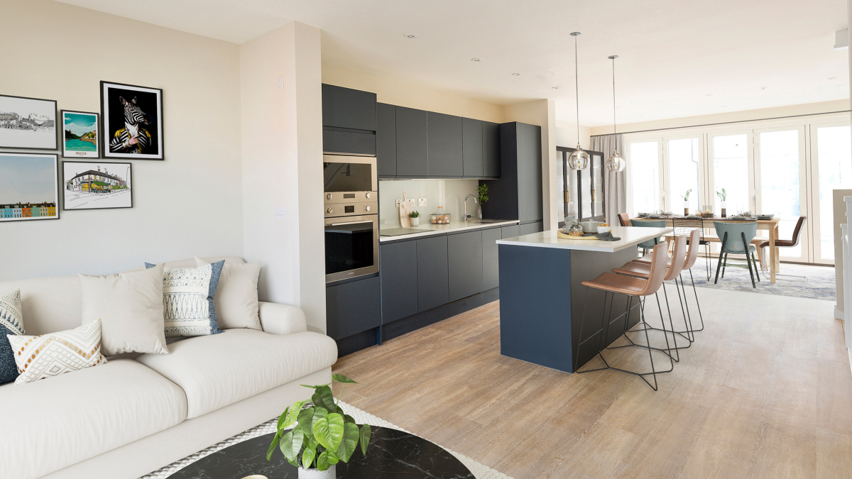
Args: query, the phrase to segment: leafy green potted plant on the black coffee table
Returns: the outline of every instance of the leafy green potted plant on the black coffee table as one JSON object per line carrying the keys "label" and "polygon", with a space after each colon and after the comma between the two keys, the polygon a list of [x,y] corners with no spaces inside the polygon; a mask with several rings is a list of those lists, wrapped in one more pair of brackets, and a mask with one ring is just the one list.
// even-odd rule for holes
{"label": "leafy green potted plant on the black coffee table", "polygon": [[[331,380],[343,384],[337,402],[330,384],[302,384],[314,389],[314,395],[310,400],[294,402],[281,413],[277,432],[269,444],[267,460],[272,459],[275,447],[279,447],[287,462],[299,468],[300,479],[334,479],[335,465],[339,461],[349,462],[356,447],[360,445],[361,453],[367,453],[370,424],[358,427],[355,419],[339,406],[346,385],[358,383],[343,374],[335,374]],[[287,431],[293,424],[296,426]]]}

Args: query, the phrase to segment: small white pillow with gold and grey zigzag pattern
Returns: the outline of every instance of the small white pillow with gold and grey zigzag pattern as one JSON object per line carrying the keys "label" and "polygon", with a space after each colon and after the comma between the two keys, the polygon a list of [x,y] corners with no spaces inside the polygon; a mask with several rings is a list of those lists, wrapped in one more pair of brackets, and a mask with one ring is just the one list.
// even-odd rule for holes
{"label": "small white pillow with gold and grey zigzag pattern", "polygon": [[101,355],[101,320],[41,336],[10,334],[7,338],[20,372],[14,384],[32,383],[107,362]]}

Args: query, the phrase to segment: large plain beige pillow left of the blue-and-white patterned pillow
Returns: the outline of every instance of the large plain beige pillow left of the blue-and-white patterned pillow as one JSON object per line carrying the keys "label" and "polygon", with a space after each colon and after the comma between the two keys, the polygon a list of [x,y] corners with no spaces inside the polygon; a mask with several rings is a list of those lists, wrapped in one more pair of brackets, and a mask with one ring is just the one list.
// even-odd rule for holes
{"label": "large plain beige pillow left of the blue-and-white patterned pillow", "polygon": [[103,354],[169,354],[163,321],[163,265],[139,271],[80,274],[83,321],[101,320]]}

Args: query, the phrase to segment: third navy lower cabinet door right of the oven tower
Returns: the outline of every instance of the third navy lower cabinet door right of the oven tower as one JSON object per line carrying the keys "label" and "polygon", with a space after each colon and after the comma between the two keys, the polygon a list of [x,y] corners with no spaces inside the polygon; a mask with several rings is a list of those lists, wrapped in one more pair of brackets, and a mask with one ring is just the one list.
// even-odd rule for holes
{"label": "third navy lower cabinet door right of the oven tower", "polygon": [[482,292],[482,231],[446,237],[450,301]]}

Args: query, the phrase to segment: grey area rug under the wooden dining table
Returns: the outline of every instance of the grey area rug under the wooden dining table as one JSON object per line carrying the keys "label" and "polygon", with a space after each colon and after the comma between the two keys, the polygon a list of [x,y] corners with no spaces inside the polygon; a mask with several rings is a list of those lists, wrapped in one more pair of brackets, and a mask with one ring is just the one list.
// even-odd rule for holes
{"label": "grey area rug under the wooden dining table", "polygon": [[[715,259],[715,261],[714,261]],[[836,298],[834,267],[815,266],[810,264],[781,263],[780,271],[775,275],[775,284],[769,282],[769,272],[760,273],[760,282],[755,278],[757,288],[751,287],[751,277],[748,274],[745,260],[730,260],[725,268],[725,277],[719,274],[719,282],[714,285],[718,259],[711,258],[711,276],[707,280],[707,269],[703,257],[692,268],[695,286],[728,291],[748,291],[778,296],[810,297],[834,301]],[[759,268],[759,267],[758,267]],[[687,286],[689,275],[686,274]]]}

